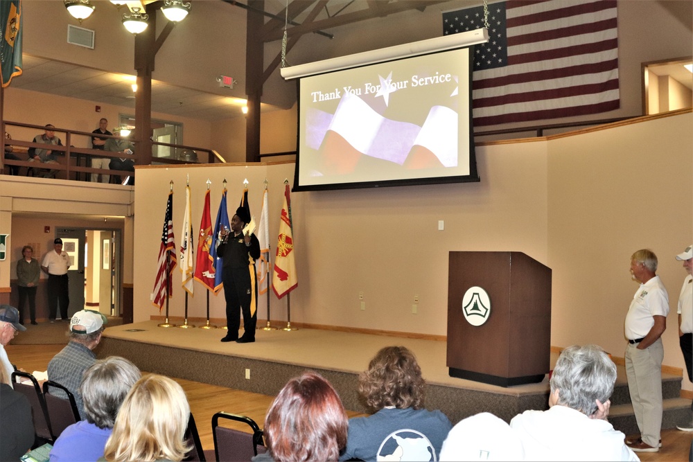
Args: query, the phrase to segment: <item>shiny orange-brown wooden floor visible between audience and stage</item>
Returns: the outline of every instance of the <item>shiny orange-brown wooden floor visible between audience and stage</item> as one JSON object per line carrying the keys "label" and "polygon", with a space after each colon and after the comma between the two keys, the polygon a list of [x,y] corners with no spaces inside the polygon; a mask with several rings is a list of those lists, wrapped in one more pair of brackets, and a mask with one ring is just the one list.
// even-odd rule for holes
{"label": "shiny orange-brown wooden floor visible between audience and stage", "polygon": [[[46,371],[51,358],[58,353],[64,345],[8,345],[6,351],[10,361],[18,368],[25,371]],[[227,411],[233,414],[243,414],[255,420],[262,428],[265,421],[265,412],[270,406],[273,396],[265,396],[248,391],[238,391],[215,385],[193,382],[191,380],[175,379],[188,396],[188,402],[195,416],[195,423],[200,432],[200,440],[205,450],[213,450],[214,443],[211,434],[211,418],[218,411]],[[347,411],[349,417],[361,416],[356,412]],[[233,426],[233,425],[230,425]],[[236,427],[247,431],[247,426]],[[640,453],[638,456],[644,462],[656,461],[687,461],[690,449],[692,433],[679,432],[678,430],[664,430],[662,432],[663,447],[659,452]]]}

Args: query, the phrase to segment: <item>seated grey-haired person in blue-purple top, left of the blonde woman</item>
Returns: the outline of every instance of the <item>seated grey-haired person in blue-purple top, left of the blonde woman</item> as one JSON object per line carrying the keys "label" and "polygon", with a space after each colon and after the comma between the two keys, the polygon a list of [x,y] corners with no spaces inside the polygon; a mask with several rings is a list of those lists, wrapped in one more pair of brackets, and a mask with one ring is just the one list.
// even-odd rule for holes
{"label": "seated grey-haired person in blue-purple top, left of the blonde woman", "polygon": [[140,376],[137,366],[124,357],[92,364],[80,386],[86,420],[63,430],[51,450],[51,462],[96,461],[103,456],[118,410]]}

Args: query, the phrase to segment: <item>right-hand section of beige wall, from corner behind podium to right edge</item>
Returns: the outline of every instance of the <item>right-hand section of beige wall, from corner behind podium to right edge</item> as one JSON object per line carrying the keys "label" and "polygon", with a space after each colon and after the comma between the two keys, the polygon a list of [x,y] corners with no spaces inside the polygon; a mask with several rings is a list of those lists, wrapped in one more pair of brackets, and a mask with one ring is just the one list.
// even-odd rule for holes
{"label": "right-hand section of beige wall, from corner behind podium to right edge", "polygon": [[597,340],[623,356],[638,287],[630,258],[649,248],[669,291],[665,364],[685,368],[676,318],[685,271],[674,256],[693,242],[692,123],[689,113],[550,141],[552,344]]}

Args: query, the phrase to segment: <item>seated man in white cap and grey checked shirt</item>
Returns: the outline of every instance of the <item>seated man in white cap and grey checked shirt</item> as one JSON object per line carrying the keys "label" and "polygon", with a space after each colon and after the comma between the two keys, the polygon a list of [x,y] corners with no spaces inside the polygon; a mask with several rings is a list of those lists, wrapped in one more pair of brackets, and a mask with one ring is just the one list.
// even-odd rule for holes
{"label": "seated man in white cap and grey checked shirt", "polygon": [[[76,312],[70,320],[69,344],[62,348],[48,364],[49,380],[58,382],[75,396],[77,409],[82,418],[85,418],[84,402],[80,395],[82,375],[96,361],[93,350],[101,340],[103,325],[107,322],[106,317],[98,311]],[[61,390],[53,390],[51,393],[67,399]]]}

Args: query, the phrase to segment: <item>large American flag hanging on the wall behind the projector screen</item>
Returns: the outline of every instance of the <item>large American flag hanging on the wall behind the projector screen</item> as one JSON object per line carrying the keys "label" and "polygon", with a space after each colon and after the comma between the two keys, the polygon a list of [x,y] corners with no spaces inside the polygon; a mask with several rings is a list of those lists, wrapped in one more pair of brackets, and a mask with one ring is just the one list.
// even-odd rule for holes
{"label": "large American flag hanging on the wall behind the projector screen", "polygon": [[[484,27],[484,8],[443,13],[444,35]],[[597,114],[619,107],[615,0],[489,4],[476,45],[474,126]]]}

